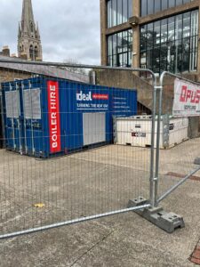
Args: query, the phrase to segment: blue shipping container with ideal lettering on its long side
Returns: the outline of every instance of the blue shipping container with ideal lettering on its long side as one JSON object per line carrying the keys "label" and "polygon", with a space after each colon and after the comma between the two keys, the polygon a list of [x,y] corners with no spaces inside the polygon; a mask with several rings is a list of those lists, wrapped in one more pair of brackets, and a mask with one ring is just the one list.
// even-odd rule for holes
{"label": "blue shipping container with ideal lettering on its long side", "polygon": [[[53,138],[60,138],[60,151],[55,153],[50,150],[51,101],[48,98],[50,90],[47,90],[50,82],[58,83],[59,91],[56,102],[60,124],[57,121],[58,128],[55,127],[56,136]],[[16,150],[16,147],[21,146],[23,153],[30,156],[48,158],[81,150],[87,145],[113,142],[113,116],[129,117],[135,115],[137,110],[137,92],[134,90],[49,80],[44,77],[4,83],[2,86],[4,106],[5,94],[13,88],[19,88],[17,92],[20,93],[22,112],[18,119],[12,120],[11,117],[8,119],[4,116],[4,123],[10,131],[6,135],[6,147]],[[9,97],[8,94],[6,98],[7,113],[12,116],[12,96]],[[17,105],[15,109],[19,110]]]}

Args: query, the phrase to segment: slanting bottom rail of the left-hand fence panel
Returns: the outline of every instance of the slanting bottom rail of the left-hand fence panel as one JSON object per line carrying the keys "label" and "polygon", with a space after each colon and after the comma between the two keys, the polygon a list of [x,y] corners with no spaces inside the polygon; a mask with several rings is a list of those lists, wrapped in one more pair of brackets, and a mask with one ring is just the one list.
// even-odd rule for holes
{"label": "slanting bottom rail of the left-hand fence panel", "polygon": [[28,229],[28,230],[25,230],[25,231],[16,231],[16,232],[12,232],[10,234],[0,235],[0,239],[13,238],[13,237],[17,237],[17,236],[24,235],[24,234],[34,233],[34,232],[37,232],[37,231],[49,230],[49,229],[52,229],[52,228],[58,228],[60,226],[66,226],[66,225],[74,224],[74,223],[83,223],[83,222],[87,222],[87,221],[91,221],[91,220],[107,217],[107,216],[110,216],[110,215],[124,214],[124,213],[127,213],[127,212],[139,210],[139,209],[142,209],[142,208],[147,208],[149,206],[150,206],[150,204],[146,204],[146,205],[143,205],[143,206],[133,206],[133,207],[130,207],[130,208],[124,208],[124,209],[121,209],[121,210],[116,210],[114,212],[109,212],[109,213],[105,213],[105,214],[87,216],[87,217],[83,217],[83,218],[79,218],[79,219],[75,219],[75,220],[71,220],[71,221],[66,221],[66,222],[62,222],[62,223],[54,223],[54,224],[41,226],[41,227],[37,227],[37,228],[31,228],[31,229]]}

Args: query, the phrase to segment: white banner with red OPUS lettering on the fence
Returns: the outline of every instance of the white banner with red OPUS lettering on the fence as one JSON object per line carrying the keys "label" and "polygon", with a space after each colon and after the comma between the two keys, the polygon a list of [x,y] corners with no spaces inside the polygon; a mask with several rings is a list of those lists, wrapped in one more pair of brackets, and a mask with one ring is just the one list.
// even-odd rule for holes
{"label": "white banner with red OPUS lettering on the fence", "polygon": [[200,116],[200,85],[175,79],[172,115],[174,117]]}

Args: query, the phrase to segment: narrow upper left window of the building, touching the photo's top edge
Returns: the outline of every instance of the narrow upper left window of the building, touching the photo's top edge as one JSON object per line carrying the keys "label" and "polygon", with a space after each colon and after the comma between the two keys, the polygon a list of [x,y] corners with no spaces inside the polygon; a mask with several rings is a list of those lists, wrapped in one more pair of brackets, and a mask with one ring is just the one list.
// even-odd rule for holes
{"label": "narrow upper left window of the building, touching the photo's top edge", "polygon": [[132,0],[108,0],[108,28],[122,24],[132,17]]}

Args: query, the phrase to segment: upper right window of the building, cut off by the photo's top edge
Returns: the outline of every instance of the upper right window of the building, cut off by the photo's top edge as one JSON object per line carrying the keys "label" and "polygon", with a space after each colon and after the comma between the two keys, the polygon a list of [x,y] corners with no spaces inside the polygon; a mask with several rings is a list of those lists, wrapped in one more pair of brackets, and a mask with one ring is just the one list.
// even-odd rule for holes
{"label": "upper right window of the building, cut off by the photo's top edge", "polygon": [[140,15],[144,17],[192,1],[193,0],[140,0]]}

